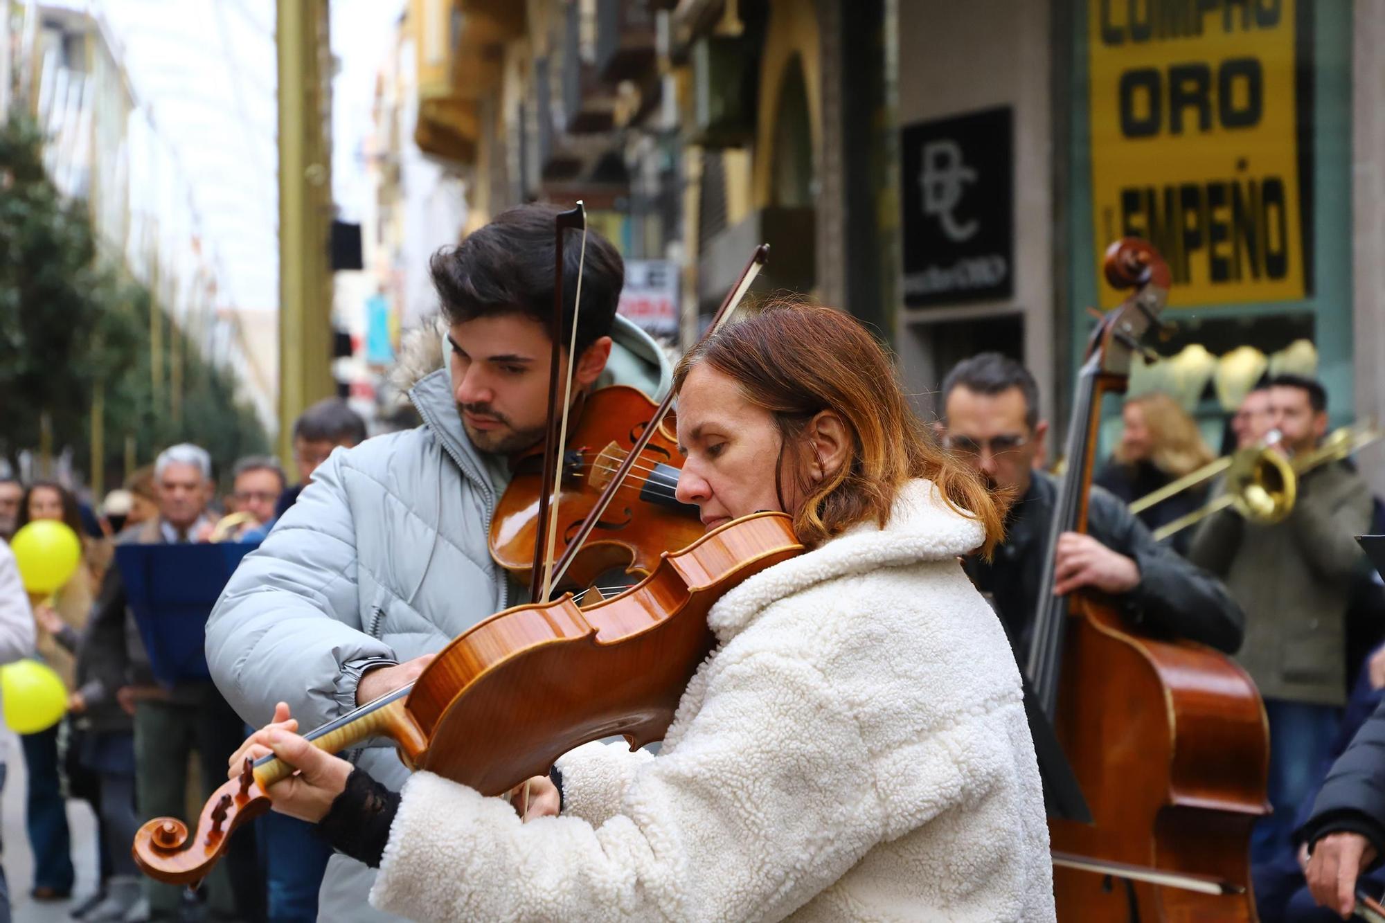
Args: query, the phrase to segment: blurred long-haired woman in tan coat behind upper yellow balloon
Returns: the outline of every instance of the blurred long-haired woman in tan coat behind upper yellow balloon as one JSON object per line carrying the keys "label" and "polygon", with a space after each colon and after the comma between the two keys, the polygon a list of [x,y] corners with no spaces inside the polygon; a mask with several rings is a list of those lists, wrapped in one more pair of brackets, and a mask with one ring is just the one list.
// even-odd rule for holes
{"label": "blurred long-haired woman in tan coat behind upper yellow balloon", "polygon": [[[37,520],[57,520],[72,529],[83,545],[89,539],[71,491],[55,481],[36,481],[19,502],[18,529]],[[17,531],[18,531],[17,529]],[[91,610],[91,572],[78,567],[72,578],[53,595],[51,600],[33,600],[37,632],[37,653],[62,678],[68,692],[73,690],[73,658],[43,626],[68,625],[82,631]],[[24,761],[29,775],[29,794],[25,805],[25,825],[33,850],[33,890],[36,901],[65,901],[72,895],[72,837],[68,832],[66,800],[62,795],[58,733],[61,722],[33,735],[21,735]]]}

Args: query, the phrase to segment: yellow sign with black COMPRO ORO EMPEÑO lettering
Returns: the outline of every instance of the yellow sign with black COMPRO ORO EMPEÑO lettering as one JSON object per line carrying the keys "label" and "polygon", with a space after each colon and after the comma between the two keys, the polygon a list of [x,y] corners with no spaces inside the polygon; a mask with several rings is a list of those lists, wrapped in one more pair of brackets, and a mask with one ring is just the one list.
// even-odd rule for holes
{"label": "yellow sign with black COMPRO ORO EMPE\u00d1O lettering", "polygon": [[1295,3],[1087,0],[1102,306],[1123,236],[1163,254],[1172,306],[1306,295]]}

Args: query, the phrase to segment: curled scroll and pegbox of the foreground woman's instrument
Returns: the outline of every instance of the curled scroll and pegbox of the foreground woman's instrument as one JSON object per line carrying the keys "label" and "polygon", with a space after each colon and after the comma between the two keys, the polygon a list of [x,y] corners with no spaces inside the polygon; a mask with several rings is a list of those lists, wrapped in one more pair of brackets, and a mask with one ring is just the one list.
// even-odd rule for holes
{"label": "curled scroll and pegbox of the foreground woman's instrument", "polygon": [[226,844],[241,825],[270,808],[252,771],[249,757],[235,779],[212,793],[197,820],[195,836],[177,818],[154,818],[134,834],[134,863],[151,879],[165,884],[195,886],[226,852]]}

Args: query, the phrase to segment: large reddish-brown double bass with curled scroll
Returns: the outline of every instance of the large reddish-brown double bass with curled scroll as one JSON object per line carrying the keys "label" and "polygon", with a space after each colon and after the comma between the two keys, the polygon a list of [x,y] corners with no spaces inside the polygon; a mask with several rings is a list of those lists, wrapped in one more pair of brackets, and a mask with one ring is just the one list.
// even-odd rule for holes
{"label": "large reddish-brown double bass with curled scroll", "polygon": [[1078,376],[1026,668],[1091,812],[1050,819],[1058,919],[1256,920],[1249,838],[1269,812],[1269,736],[1251,678],[1204,644],[1132,628],[1109,597],[1053,595],[1058,536],[1086,531],[1102,398],[1125,391],[1169,290],[1168,265],[1136,238],[1107,249],[1105,276],[1132,294]]}

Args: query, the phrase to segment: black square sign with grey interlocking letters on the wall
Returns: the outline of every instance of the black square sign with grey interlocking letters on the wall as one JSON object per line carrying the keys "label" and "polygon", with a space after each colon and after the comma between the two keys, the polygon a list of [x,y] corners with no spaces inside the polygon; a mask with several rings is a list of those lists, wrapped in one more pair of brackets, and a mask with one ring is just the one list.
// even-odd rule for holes
{"label": "black square sign with grey interlocking letters on the wall", "polygon": [[906,305],[1014,292],[1011,125],[1001,107],[900,130]]}

